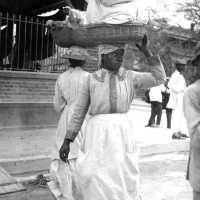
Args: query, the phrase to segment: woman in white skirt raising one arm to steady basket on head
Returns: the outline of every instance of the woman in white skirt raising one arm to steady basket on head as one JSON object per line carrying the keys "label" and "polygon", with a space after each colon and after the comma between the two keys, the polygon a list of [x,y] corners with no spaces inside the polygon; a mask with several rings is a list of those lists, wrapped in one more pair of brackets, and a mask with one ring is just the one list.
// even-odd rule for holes
{"label": "woman in white skirt raising one arm to steady basket on head", "polygon": [[76,164],[76,185],[83,200],[139,200],[138,147],[127,116],[138,88],[165,82],[159,57],[147,49],[147,36],[137,47],[148,60],[150,72],[121,68],[124,48],[101,49],[101,69],[90,74],[74,106],[60,158],[67,161],[70,143],[76,138],[86,113],[85,127]]}

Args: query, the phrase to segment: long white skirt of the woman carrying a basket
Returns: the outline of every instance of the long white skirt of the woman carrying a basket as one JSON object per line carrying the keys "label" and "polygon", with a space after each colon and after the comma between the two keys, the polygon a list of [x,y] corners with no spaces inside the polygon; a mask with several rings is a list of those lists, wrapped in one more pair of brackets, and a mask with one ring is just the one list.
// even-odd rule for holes
{"label": "long white skirt of the woman carrying a basket", "polygon": [[138,200],[138,148],[125,114],[91,117],[76,161],[83,200]]}

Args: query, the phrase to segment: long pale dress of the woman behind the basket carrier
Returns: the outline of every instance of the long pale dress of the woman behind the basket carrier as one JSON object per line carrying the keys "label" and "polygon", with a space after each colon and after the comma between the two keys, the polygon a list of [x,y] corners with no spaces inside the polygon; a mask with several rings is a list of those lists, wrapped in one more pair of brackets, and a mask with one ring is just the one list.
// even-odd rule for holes
{"label": "long pale dress of the woman behind the basket carrier", "polygon": [[[77,96],[88,74],[88,72],[82,70],[80,67],[70,68],[59,76],[55,85],[54,107],[57,112],[60,112],[60,119],[53,145],[50,165],[51,181],[48,185],[57,200],[74,200],[72,195],[71,169],[68,164],[60,160],[59,150],[63,144]],[[85,123],[82,127],[84,126]],[[83,129],[81,129],[75,141],[70,144],[70,153],[68,156],[71,159],[70,163],[73,163],[78,156]]]}

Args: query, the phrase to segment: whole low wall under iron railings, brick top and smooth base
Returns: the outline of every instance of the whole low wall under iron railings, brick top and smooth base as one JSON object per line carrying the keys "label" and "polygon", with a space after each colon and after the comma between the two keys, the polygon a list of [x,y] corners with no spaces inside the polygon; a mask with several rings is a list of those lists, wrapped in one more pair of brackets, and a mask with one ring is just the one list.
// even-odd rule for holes
{"label": "whole low wall under iron railings, brick top and smooth base", "polygon": [[58,74],[0,72],[0,129],[56,125],[53,109]]}

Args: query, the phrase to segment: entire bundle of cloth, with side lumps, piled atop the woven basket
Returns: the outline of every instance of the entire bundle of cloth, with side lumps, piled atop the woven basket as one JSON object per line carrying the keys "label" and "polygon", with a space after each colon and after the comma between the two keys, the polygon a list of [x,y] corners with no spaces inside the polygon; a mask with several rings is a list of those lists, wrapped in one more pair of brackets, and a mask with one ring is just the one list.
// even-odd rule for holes
{"label": "entire bundle of cloth, with side lumps, piled atop the woven basket", "polygon": [[136,0],[86,0],[85,12],[70,9],[66,21],[69,26],[76,28],[86,24],[124,24],[146,22],[147,13],[141,13]]}

